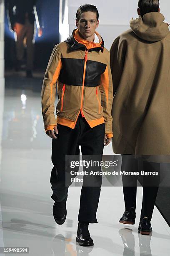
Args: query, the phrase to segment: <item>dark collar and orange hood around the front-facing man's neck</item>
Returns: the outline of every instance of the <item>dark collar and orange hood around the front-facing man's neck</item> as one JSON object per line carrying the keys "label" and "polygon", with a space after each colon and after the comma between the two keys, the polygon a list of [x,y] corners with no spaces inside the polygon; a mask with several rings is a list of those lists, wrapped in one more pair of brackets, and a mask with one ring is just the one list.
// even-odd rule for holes
{"label": "dark collar and orange hood around the front-facing man's neck", "polygon": [[95,31],[97,37],[100,40],[100,43],[94,43],[94,42],[89,42],[83,38],[80,37],[78,34],[78,29],[75,29],[72,31],[70,36],[65,40],[66,43],[70,44],[70,50],[77,50],[80,48],[83,49],[89,49],[89,51],[102,51],[104,48],[104,41],[102,37]]}

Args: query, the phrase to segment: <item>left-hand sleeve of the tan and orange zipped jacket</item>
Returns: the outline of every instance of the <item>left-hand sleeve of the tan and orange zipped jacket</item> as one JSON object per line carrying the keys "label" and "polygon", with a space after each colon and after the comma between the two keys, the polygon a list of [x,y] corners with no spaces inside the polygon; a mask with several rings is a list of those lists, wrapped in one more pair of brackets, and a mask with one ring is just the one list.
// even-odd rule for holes
{"label": "left-hand sleeve of the tan and orange zipped jacket", "polygon": [[42,84],[42,116],[45,131],[53,130],[57,125],[54,115],[56,82],[62,69],[61,53],[56,45],[50,56]]}

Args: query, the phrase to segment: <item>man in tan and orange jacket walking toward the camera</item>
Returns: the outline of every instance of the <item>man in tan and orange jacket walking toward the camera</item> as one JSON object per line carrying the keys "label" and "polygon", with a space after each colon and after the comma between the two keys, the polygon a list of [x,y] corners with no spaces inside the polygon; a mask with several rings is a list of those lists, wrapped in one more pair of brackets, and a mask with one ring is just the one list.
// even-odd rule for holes
{"label": "man in tan and orange jacket walking toward the camera", "polygon": [[[65,155],[99,155],[112,138],[112,76],[110,53],[101,36],[97,8],[82,5],[76,13],[76,26],[64,42],[56,45],[42,86],[42,115],[47,136],[52,138],[50,182],[53,215],[58,224],[66,218],[68,187],[65,186]],[[57,120],[54,115],[57,82]],[[100,196],[98,186],[82,186],[76,241],[92,246],[89,223],[97,223],[96,211]],[[84,183],[83,183],[84,184]]]}

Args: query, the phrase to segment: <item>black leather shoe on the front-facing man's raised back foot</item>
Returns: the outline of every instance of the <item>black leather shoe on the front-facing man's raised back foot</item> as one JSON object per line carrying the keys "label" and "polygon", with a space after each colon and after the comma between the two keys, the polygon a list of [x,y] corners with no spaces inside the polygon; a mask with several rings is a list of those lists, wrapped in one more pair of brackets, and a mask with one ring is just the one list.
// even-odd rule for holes
{"label": "black leather shoe on the front-facing man's raised back foot", "polygon": [[52,212],[54,219],[58,225],[62,225],[63,223],[65,223],[65,219],[67,216],[66,201],[67,197],[65,197],[65,199],[61,202],[55,202],[53,205]]}

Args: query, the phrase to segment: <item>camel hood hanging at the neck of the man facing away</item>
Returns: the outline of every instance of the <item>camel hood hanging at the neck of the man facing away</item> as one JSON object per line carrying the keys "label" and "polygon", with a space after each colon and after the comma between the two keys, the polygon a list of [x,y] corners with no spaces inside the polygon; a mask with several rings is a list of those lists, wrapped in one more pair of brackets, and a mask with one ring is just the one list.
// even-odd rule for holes
{"label": "camel hood hanging at the neck of the man facing away", "polygon": [[160,41],[168,33],[168,23],[163,22],[165,17],[161,13],[152,12],[143,15],[143,18],[130,20],[130,28],[141,39],[150,42]]}

